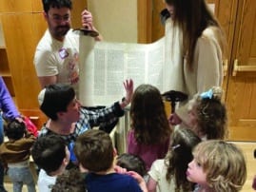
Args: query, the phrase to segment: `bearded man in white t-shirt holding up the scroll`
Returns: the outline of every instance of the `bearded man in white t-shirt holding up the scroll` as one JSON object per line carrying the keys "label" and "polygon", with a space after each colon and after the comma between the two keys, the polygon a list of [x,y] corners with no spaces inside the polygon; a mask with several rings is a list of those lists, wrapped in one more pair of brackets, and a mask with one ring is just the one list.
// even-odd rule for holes
{"label": "bearded man in white t-shirt holding up the scroll", "polygon": [[[68,84],[78,90],[79,36],[71,31],[71,0],[42,0],[48,29],[35,50],[34,65],[40,85]],[[88,10],[82,12],[82,26],[97,31]],[[94,37],[102,40],[101,35]]]}

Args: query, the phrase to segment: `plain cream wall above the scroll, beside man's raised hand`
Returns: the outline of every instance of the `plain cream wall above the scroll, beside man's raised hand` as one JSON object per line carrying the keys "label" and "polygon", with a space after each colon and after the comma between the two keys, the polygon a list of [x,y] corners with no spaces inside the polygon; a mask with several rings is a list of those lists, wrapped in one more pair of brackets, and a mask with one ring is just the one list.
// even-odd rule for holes
{"label": "plain cream wall above the scroll, beside man's raised hand", "polygon": [[136,0],[88,0],[88,9],[105,41],[137,43]]}

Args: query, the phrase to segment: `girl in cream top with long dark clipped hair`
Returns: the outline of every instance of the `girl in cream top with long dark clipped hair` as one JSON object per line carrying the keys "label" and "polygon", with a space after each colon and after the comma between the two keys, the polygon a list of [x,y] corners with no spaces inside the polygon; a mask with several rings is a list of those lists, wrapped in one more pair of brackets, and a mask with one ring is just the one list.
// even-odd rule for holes
{"label": "girl in cream top with long dark clipped hair", "polygon": [[156,160],[149,172],[148,191],[192,191],[187,181],[187,163],[193,159],[192,149],[201,139],[187,128],[177,128],[172,133],[167,157]]}

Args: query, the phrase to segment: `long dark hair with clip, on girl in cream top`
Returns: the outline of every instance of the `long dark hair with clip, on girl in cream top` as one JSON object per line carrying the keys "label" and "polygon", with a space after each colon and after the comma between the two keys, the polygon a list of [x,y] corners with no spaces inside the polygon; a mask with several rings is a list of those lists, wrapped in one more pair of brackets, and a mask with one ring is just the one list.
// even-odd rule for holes
{"label": "long dark hair with clip, on girl in cream top", "polygon": [[192,150],[201,139],[188,128],[175,129],[171,138],[172,143],[165,159],[167,181],[174,176],[175,191],[192,191],[193,184],[187,181],[187,164],[193,160]]}

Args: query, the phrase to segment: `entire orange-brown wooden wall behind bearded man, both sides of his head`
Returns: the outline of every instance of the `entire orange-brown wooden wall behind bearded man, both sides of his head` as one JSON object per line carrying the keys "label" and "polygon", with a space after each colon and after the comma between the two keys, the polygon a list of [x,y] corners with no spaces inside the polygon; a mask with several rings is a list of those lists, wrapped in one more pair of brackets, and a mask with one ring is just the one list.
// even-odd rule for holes
{"label": "entire orange-brown wooden wall behind bearded man, both sides of his head", "polygon": [[[81,12],[87,1],[73,1],[72,23],[81,27]],[[33,66],[35,48],[47,29],[41,0],[0,0],[0,18],[8,55],[8,67],[20,112],[32,116],[40,128],[47,117],[39,109],[37,95],[41,90]]]}

